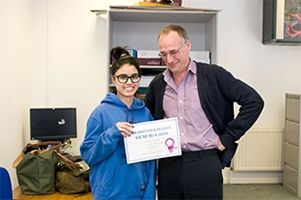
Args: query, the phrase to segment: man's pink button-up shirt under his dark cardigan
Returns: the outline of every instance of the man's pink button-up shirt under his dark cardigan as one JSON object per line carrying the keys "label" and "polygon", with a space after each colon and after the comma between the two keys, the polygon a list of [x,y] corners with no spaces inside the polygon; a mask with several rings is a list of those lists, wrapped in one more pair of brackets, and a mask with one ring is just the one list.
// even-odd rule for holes
{"label": "man's pink button-up shirt under his dark cardigan", "polygon": [[163,99],[164,118],[178,118],[182,151],[217,148],[218,136],[200,104],[196,64],[190,61],[188,72],[178,87],[168,69],[163,75],[167,82]]}

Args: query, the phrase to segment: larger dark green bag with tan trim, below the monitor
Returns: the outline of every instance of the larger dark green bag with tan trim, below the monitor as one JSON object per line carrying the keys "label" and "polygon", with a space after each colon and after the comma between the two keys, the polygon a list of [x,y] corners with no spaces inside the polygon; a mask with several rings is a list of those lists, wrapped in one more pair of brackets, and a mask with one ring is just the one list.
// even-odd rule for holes
{"label": "larger dark green bag with tan trim, below the monitor", "polygon": [[39,142],[26,145],[16,158],[17,179],[23,194],[55,193],[55,173],[61,142]]}

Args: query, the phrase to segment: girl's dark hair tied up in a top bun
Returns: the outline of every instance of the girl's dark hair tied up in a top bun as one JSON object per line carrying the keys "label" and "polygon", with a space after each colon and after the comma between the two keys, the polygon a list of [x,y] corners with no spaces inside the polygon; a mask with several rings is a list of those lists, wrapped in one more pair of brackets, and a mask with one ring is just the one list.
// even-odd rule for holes
{"label": "girl's dark hair tied up in a top bun", "polygon": [[134,65],[138,70],[138,74],[141,75],[138,61],[130,55],[130,53],[126,50],[126,47],[114,47],[111,49],[110,55],[113,62],[111,75],[115,75],[116,71],[125,64]]}

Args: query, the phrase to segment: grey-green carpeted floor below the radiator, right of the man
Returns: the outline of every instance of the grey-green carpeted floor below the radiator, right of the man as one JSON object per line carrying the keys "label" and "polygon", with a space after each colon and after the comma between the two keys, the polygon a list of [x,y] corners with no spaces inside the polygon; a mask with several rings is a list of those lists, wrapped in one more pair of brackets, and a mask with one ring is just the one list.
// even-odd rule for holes
{"label": "grey-green carpeted floor below the radiator, right of the man", "polygon": [[281,184],[224,185],[224,200],[300,200]]}

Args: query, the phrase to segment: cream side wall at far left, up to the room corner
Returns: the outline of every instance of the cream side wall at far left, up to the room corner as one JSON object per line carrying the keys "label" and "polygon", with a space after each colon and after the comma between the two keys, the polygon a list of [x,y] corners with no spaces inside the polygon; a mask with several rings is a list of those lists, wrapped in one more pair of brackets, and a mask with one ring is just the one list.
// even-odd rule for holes
{"label": "cream side wall at far left, up to the room corner", "polygon": [[0,166],[16,185],[12,163],[28,141],[33,99],[34,11],[32,1],[0,1]]}

